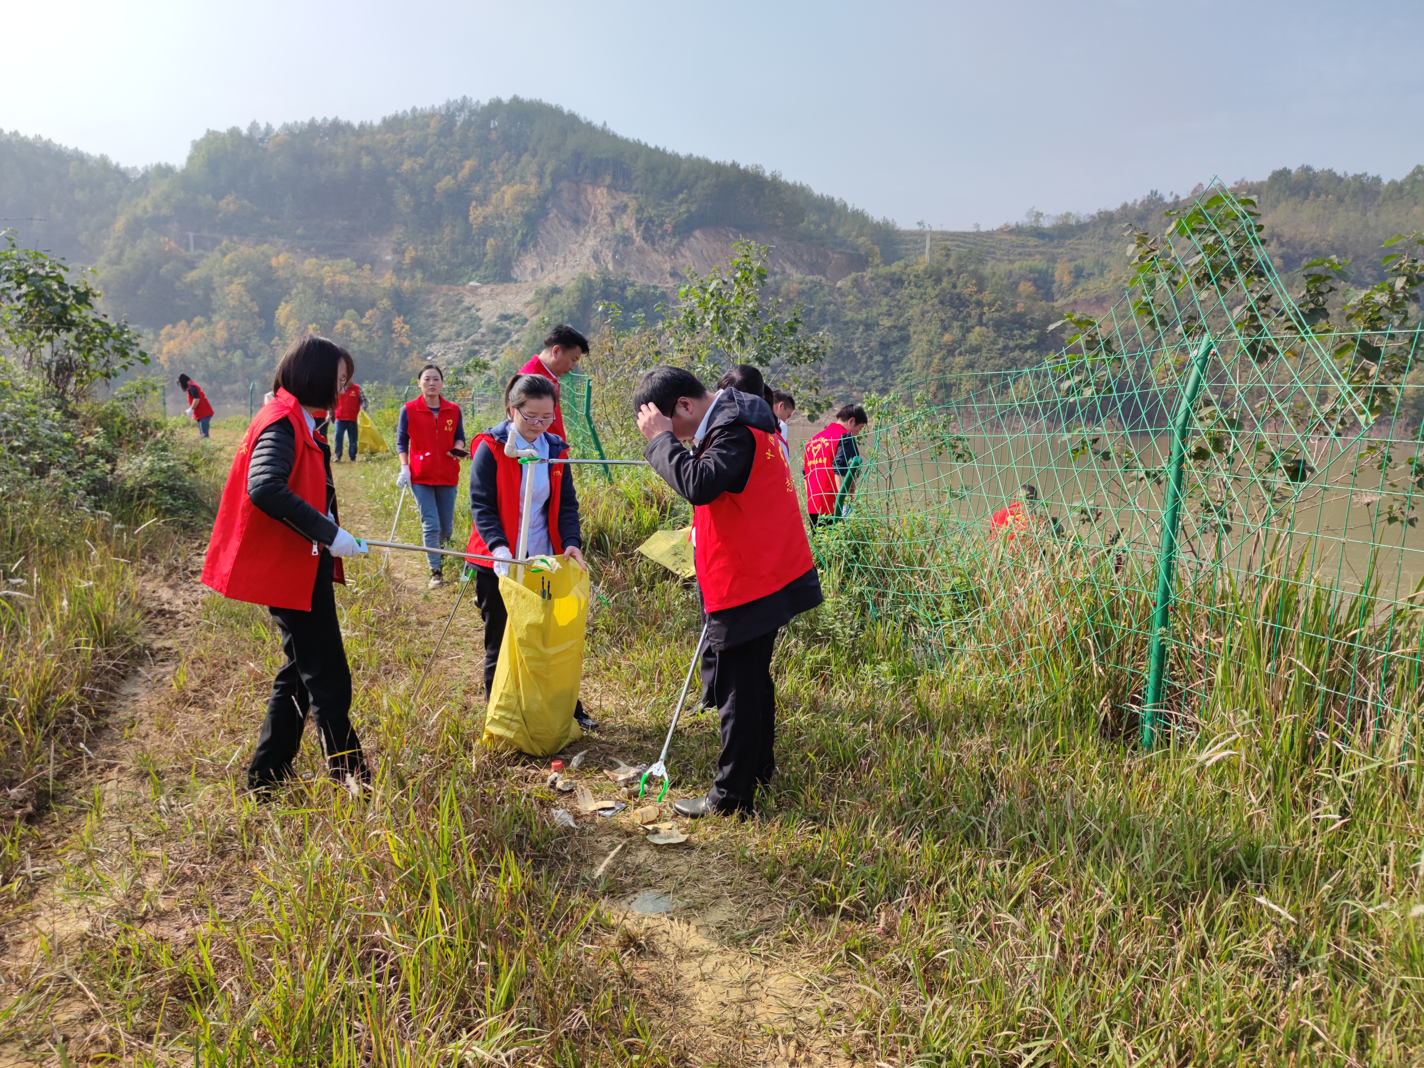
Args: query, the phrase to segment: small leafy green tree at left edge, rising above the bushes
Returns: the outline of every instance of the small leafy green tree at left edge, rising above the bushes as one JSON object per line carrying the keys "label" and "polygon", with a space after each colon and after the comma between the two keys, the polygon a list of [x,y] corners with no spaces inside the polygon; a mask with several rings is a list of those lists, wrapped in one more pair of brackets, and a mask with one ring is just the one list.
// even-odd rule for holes
{"label": "small leafy green tree at left edge, rising above the bushes", "polygon": [[71,281],[63,259],[19,248],[14,231],[0,236],[0,349],[38,375],[61,403],[148,363],[138,333],[95,309],[100,292],[87,279]]}

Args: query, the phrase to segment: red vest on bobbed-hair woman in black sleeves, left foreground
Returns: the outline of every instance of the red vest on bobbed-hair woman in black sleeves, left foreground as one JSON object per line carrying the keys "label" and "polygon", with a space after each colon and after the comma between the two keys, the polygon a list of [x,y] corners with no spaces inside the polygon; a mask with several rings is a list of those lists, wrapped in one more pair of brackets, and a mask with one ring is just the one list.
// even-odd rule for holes
{"label": "red vest on bobbed-hair woman in black sleeves, left foreground", "polygon": [[[326,464],[322,447],[308,433],[296,397],[285,389],[278,390],[276,399],[258,412],[238,446],[238,454],[232,457],[232,470],[228,471],[228,484],[222,488],[222,503],[218,504],[218,518],[208,541],[208,555],[202,562],[202,584],[234,601],[309,612],[312,587],[316,585],[316,545],[285,523],[273,520],[248,497],[252,446],[263,430],[282,419],[290,420],[296,434],[296,460],[286,484],[298,497],[326,514]],[[332,513],[336,510],[332,508]],[[333,578],[342,582],[342,561],[335,562]]]}

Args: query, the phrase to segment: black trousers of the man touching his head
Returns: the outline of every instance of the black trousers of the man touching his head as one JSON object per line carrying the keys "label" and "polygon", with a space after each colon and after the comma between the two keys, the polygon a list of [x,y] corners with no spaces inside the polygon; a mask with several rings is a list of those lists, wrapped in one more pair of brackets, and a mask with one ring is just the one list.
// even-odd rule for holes
{"label": "black trousers of the man touching his head", "polygon": [[718,649],[712,693],[722,718],[722,753],[708,802],[719,812],[750,812],[756,787],[776,772],[776,631]]}

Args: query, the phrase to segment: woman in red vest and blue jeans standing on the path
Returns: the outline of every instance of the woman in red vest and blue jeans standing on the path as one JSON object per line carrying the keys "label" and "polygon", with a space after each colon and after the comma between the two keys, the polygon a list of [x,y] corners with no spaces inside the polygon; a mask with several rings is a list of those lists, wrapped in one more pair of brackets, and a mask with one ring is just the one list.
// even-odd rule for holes
{"label": "woman in red vest and blue jeans standing on the path", "polygon": [[[441,396],[444,372],[427,363],[420,369],[420,396],[400,409],[396,422],[396,453],[400,474],[396,486],[409,486],[420,506],[422,543],[440,548],[454,534],[454,496],[464,450],[464,417],[460,406]],[[444,585],[444,557],[427,553],[430,588]]]}

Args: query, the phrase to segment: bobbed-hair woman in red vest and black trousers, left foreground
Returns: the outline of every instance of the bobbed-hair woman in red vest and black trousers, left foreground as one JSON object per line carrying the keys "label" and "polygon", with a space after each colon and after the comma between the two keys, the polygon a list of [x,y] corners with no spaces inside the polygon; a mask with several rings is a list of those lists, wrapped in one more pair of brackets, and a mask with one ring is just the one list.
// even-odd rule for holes
{"label": "bobbed-hair woman in red vest and black trousers, left foreground", "polygon": [[332,585],[345,581],[340,557],[366,550],[340,527],[330,451],[313,417],[335,402],[343,360],[350,356],[326,337],[292,342],[276,396],[232,460],[202,565],[204,585],[268,607],[286,654],[248,766],[253,790],[292,775],[309,711],[330,773],[349,786],[370,780],[350,723],[352,675]]}

